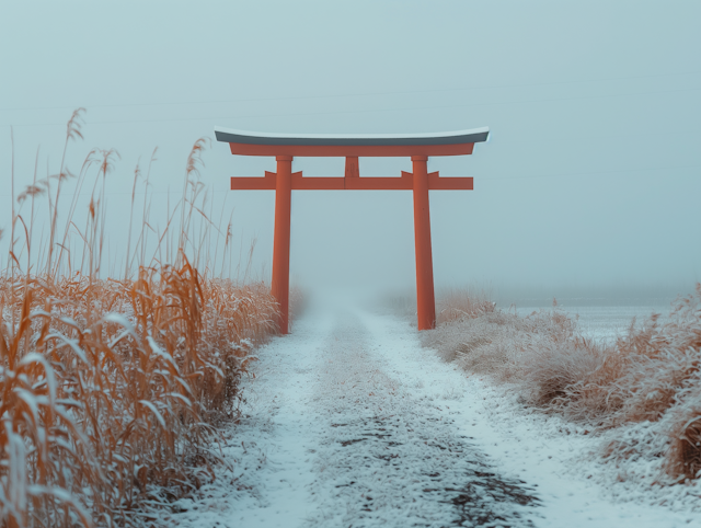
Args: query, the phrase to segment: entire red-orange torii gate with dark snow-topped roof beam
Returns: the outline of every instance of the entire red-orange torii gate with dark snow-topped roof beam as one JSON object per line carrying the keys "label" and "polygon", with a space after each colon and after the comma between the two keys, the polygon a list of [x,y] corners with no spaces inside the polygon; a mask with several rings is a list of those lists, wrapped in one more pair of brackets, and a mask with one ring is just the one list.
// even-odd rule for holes
{"label": "entire red-orange torii gate with dark snow-topped roof beam", "polygon": [[[275,240],[273,245],[272,294],[280,307],[281,333],[288,333],[289,314],[289,234],[292,191],[413,191],[414,242],[416,252],[416,308],[418,330],[436,326],[434,268],[430,249],[428,191],[471,191],[471,177],[439,177],[428,174],[429,156],[471,154],[475,142],[486,141],[489,128],[439,134],[402,135],[312,135],[263,134],[215,127],[218,141],[228,142],[232,154],[274,156],[277,172],[264,177],[232,177],[231,190],[275,191]],[[295,157],[346,159],[344,177],[302,177],[292,172]],[[360,177],[359,157],[406,157],[413,173],[401,177]]]}

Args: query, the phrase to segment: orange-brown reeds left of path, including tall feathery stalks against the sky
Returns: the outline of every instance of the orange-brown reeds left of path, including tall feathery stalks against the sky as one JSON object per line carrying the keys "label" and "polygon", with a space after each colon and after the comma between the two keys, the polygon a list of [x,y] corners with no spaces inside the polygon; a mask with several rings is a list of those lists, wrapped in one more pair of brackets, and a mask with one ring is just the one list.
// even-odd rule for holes
{"label": "orange-brown reeds left of path, including tall feathery stalks against the sky", "polygon": [[[80,116],[69,122],[67,146],[80,136]],[[57,225],[61,187],[71,177],[64,162],[58,175],[35,175],[20,194],[19,206],[31,202],[28,218],[13,205],[0,275],[2,526],[141,525],[149,512],[214,478],[216,426],[235,415],[239,382],[255,345],[275,332],[277,307],[265,285],[209,272],[219,267],[212,259],[219,244],[197,204],[203,147],[195,144],[183,198],[169,210],[171,219],[181,211],[179,229],[169,221],[149,244],[145,200],[143,228],[135,248],[129,242],[120,277],[101,278],[101,204],[114,151],[89,154],[65,228]],[[90,174],[92,197],[78,231],[77,196]],[[137,168],[135,186],[139,177]],[[42,197],[51,219],[48,249],[33,248],[34,203]],[[206,221],[197,223],[198,214]],[[223,269],[231,225],[217,231]],[[82,257],[71,245],[76,234]]]}

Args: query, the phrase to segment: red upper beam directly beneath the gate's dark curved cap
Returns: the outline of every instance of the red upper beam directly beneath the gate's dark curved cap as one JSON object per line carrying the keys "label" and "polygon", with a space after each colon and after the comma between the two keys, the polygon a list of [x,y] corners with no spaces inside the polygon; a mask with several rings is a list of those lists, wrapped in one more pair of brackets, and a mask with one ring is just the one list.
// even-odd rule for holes
{"label": "red upper beam directly beneath the gate's dark curved cap", "polygon": [[248,145],[229,144],[232,154],[239,156],[300,156],[310,158],[410,158],[412,156],[466,156],[474,144],[410,145],[410,146],[341,146],[320,147],[309,145]]}

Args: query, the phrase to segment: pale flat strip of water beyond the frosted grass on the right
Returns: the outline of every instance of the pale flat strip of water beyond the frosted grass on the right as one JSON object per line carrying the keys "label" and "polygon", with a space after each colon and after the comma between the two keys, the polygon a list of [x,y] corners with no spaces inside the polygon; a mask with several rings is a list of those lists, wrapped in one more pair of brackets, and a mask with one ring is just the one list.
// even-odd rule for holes
{"label": "pale flat strip of water beyond the frosted grass on the right", "polygon": [[[631,326],[633,318],[635,325],[640,325],[653,313],[662,314],[664,320],[671,311],[671,302],[650,303],[643,306],[563,306],[564,312],[578,315],[579,329],[585,335],[605,341],[614,341]],[[528,315],[533,311],[549,310],[551,307],[516,307],[516,313]],[[513,312],[514,308],[512,308]]]}

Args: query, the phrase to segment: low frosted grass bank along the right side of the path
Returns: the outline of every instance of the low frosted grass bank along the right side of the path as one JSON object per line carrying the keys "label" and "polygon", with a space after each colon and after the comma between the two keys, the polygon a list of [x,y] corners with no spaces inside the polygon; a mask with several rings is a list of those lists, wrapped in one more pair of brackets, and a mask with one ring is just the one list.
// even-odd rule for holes
{"label": "low frosted grass bank along the right side of the path", "polygon": [[[466,313],[425,332],[423,344],[509,383],[522,403],[600,434],[619,480],[701,477],[701,285],[666,319],[633,321],[613,342],[586,336],[554,306],[528,317]],[[634,461],[645,471],[632,470]]]}

